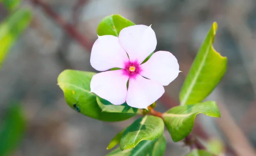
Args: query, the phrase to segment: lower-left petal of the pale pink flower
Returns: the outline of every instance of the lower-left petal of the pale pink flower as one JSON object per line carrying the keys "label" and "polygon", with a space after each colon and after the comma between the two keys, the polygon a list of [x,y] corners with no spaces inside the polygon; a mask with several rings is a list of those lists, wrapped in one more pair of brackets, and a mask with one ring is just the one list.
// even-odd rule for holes
{"label": "lower-left petal of the pale pink flower", "polygon": [[121,105],[126,99],[128,79],[129,76],[123,74],[123,70],[101,72],[93,76],[90,89],[113,105]]}

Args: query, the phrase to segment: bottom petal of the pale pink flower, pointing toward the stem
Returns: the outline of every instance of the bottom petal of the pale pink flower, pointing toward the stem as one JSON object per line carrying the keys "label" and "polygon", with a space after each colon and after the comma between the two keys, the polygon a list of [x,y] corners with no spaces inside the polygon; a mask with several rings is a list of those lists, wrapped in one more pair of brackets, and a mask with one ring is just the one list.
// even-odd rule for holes
{"label": "bottom petal of the pale pink flower, pointing toward the stem", "polygon": [[134,108],[147,108],[164,93],[163,85],[154,80],[145,79],[139,74],[129,79],[126,103]]}

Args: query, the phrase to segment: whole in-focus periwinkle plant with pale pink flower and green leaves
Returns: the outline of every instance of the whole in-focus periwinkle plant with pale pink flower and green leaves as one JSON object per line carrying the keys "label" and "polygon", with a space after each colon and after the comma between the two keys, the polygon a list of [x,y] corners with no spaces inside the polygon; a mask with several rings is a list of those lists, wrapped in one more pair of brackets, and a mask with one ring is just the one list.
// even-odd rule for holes
{"label": "whole in-focus periwinkle plant with pale pink flower and green leaves", "polygon": [[[94,119],[116,122],[143,116],[111,140],[107,149],[120,146],[108,156],[162,156],[164,125],[178,142],[190,138],[198,113],[221,116],[214,101],[202,102],[227,68],[227,58],[212,47],[216,30],[213,23],[180,91],[180,106],[164,113],[154,111],[154,105],[164,93],[163,86],[180,73],[177,59],[168,51],[152,53],[157,40],[151,26],[135,25],[120,15],[105,17],[97,29],[90,62],[103,72],[65,70],[58,85],[71,108]],[[212,155],[198,148],[192,148],[189,156]]]}

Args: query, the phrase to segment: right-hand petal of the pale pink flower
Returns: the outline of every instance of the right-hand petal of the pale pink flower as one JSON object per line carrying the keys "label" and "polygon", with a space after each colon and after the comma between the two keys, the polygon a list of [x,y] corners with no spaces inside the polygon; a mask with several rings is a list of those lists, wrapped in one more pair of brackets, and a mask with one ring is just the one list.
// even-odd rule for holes
{"label": "right-hand petal of the pale pink flower", "polygon": [[155,52],[140,68],[140,75],[162,85],[169,85],[180,73],[178,61],[169,51]]}

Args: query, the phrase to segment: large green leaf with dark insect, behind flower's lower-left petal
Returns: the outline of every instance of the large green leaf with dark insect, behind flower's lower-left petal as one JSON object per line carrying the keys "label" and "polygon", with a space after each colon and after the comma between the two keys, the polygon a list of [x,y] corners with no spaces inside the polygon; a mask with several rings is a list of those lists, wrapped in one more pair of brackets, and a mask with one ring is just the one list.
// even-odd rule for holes
{"label": "large green leaf with dark insect, behind flower's lower-left petal", "polygon": [[96,73],[65,70],[58,76],[58,85],[64,92],[67,104],[79,113],[102,121],[122,121],[133,113],[107,113],[99,108],[96,95],[90,93],[90,80]]}

